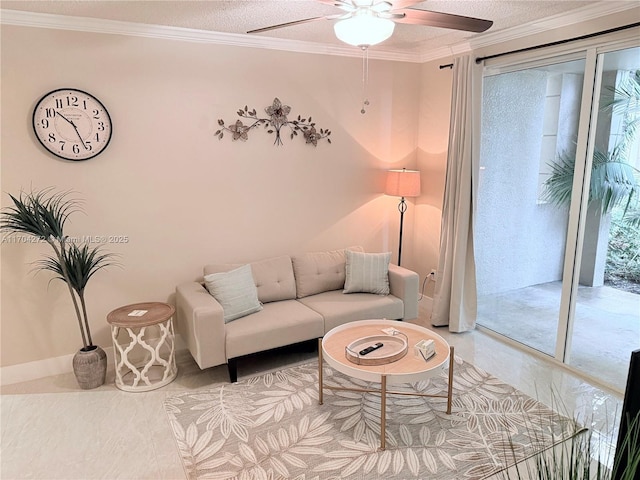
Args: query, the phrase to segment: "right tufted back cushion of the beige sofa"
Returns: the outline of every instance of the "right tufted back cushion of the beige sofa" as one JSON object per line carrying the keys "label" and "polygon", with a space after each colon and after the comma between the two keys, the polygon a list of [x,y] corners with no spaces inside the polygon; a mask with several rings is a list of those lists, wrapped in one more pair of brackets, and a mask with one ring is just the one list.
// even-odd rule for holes
{"label": "right tufted back cushion of the beige sofa", "polygon": [[[349,250],[364,251],[362,247],[349,247]],[[291,260],[298,298],[344,288],[345,250],[303,253]]]}

